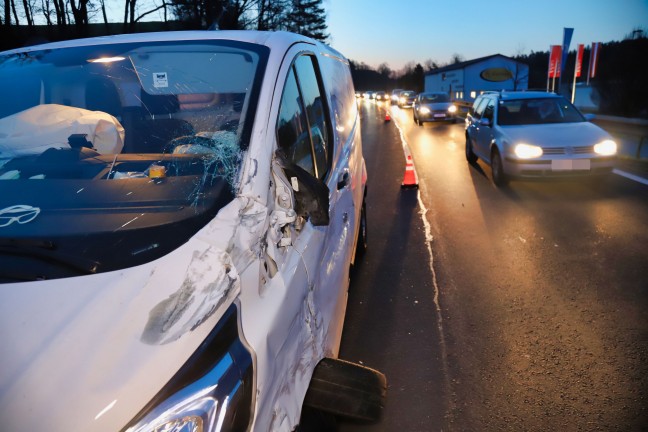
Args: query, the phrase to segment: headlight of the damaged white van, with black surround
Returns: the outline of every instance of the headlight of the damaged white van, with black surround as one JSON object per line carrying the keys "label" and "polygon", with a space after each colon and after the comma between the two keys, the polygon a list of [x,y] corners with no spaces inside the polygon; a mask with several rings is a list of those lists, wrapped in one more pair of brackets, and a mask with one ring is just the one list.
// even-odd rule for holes
{"label": "headlight of the damaged white van, with black surround", "polygon": [[236,306],[125,432],[245,431],[253,412],[252,356]]}

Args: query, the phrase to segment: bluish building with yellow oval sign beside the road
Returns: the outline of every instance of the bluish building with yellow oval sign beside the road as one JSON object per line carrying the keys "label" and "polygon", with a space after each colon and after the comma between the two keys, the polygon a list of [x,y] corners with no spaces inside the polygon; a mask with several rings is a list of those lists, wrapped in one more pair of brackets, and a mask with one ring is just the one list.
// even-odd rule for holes
{"label": "bluish building with yellow oval sign beside the road", "polygon": [[425,74],[426,92],[444,92],[473,102],[485,91],[527,90],[529,66],[502,54],[455,63]]}

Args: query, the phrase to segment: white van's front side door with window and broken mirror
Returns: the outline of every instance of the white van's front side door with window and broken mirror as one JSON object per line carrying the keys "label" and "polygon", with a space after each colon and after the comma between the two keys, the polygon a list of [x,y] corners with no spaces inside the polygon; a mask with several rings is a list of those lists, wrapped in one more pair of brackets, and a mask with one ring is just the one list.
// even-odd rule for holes
{"label": "white van's front side door with window and broken mirror", "polygon": [[[325,58],[321,61],[335,60]],[[311,313],[318,324],[313,329],[318,332],[318,343],[323,346],[325,355],[337,356],[355,233],[355,226],[351,225],[354,220],[352,173],[348,149],[347,152],[334,151],[336,134],[330,116],[331,101],[323,85],[319,63],[312,54],[303,53],[295,59],[282,98],[277,139],[279,149],[308,171],[313,181],[328,187],[327,225],[314,226],[309,220],[299,231],[294,246],[303,257],[311,278],[308,295],[312,302]],[[295,125],[299,125],[298,129],[287,134],[285,128]],[[333,155],[338,157],[335,161]],[[295,199],[309,199],[303,197],[303,193],[305,191],[294,191]]]}

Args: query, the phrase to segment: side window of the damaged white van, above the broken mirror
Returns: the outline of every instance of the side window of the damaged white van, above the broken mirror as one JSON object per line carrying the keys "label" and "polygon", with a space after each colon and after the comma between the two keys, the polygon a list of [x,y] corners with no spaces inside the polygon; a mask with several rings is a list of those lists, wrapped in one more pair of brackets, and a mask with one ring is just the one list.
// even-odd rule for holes
{"label": "side window of the damaged white van, above the broken mirror", "polygon": [[329,167],[330,120],[315,59],[297,58],[281,98],[277,140],[288,158],[324,179]]}

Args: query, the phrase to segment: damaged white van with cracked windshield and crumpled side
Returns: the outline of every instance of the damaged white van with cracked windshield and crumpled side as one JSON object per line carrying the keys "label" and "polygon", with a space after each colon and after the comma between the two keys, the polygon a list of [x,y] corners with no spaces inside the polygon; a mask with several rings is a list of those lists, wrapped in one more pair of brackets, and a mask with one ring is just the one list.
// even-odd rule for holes
{"label": "damaged white van with cracked windshield and crumpled side", "polygon": [[[3,431],[372,419],[337,360],[366,169],[348,63],[290,33],[0,53]],[[320,412],[320,411],[318,411]]]}

